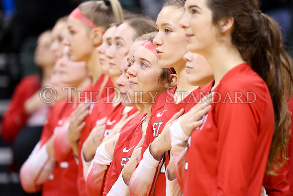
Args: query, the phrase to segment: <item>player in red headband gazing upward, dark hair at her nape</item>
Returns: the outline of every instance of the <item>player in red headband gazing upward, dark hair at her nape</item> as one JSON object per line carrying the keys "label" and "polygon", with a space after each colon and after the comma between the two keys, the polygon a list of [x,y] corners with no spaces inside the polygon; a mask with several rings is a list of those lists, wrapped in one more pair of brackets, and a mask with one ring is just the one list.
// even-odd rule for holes
{"label": "player in red headband gazing upward, dark hair at her nape", "polygon": [[[148,115],[121,130],[103,195],[117,195],[122,190],[129,194],[129,181],[140,157],[140,150],[137,149],[144,141],[142,134],[146,133],[152,102],[156,95],[176,85],[175,77],[170,69],[158,66],[156,54],[156,46],[146,41],[135,51],[133,65],[127,70],[129,95],[132,99],[142,100]],[[135,97],[135,92],[143,92],[142,97]],[[128,161],[129,164],[127,164]]]}

